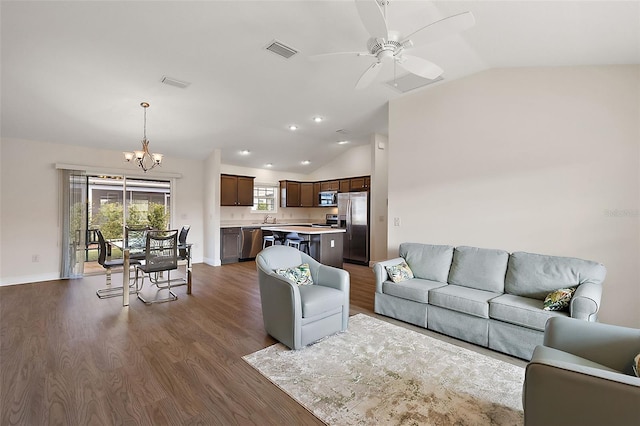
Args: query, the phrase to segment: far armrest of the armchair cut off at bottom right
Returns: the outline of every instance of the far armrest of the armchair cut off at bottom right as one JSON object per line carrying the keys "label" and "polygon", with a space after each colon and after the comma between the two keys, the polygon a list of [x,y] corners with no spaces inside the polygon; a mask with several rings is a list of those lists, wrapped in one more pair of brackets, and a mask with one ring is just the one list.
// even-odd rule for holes
{"label": "far armrest of the armchair cut off at bottom right", "polygon": [[640,353],[640,330],[552,317],[545,327],[544,345],[633,374],[632,360]]}

